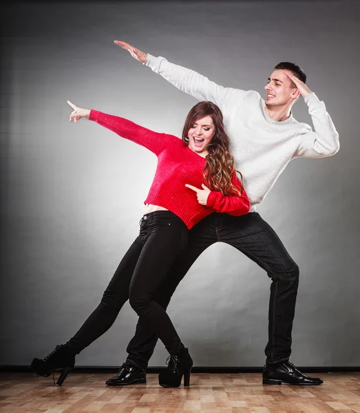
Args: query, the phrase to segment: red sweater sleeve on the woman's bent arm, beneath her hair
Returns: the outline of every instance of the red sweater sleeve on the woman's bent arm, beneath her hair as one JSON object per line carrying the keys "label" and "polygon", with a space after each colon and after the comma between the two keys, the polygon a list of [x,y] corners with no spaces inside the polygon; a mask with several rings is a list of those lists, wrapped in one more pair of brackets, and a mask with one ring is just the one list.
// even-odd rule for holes
{"label": "red sweater sleeve on the woman's bent arm, beneath her hair", "polygon": [[[232,182],[235,187],[240,188],[240,182],[235,173],[233,173]],[[228,213],[238,217],[250,211],[250,201],[243,187],[239,195],[222,195],[220,191],[211,191],[207,198],[207,207],[216,212]]]}

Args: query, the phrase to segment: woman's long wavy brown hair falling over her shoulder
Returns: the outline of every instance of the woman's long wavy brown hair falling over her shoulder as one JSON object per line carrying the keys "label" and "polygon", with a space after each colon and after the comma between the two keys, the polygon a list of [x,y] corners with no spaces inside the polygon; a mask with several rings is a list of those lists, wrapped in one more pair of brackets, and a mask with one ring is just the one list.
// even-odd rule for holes
{"label": "woman's long wavy brown hair falling over her shoulder", "polygon": [[235,172],[235,161],[230,153],[230,139],[225,131],[222,112],[215,103],[200,102],[190,110],[182,129],[182,142],[189,145],[189,129],[205,116],[211,116],[215,126],[215,135],[207,147],[209,154],[203,169],[205,183],[211,190],[220,191],[223,195],[237,195],[239,189],[231,182]]}

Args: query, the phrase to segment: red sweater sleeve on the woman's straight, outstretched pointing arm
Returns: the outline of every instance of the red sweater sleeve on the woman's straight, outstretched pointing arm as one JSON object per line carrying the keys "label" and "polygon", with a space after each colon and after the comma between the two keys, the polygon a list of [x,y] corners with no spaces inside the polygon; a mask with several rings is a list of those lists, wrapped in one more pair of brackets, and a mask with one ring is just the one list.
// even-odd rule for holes
{"label": "red sweater sleeve on the woman's straight, outstretched pointing arm", "polygon": [[164,150],[166,145],[169,145],[171,140],[178,140],[176,136],[159,134],[146,127],[137,125],[136,123],[131,122],[131,120],[120,118],[119,116],[103,114],[103,112],[98,112],[94,109],[90,112],[89,120],[93,120],[98,123],[98,125],[110,129],[119,136],[149,149],[157,156]]}

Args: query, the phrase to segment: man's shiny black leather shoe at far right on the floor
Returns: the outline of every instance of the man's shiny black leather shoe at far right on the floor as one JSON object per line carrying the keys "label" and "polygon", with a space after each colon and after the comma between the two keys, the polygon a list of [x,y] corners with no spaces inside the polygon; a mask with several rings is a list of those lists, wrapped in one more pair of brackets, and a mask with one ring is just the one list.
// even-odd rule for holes
{"label": "man's shiny black leather shoe at far right on the floor", "polygon": [[315,377],[308,377],[297,370],[297,368],[290,363],[266,364],[262,371],[262,384],[293,384],[293,385],[319,385],[324,383],[321,379]]}

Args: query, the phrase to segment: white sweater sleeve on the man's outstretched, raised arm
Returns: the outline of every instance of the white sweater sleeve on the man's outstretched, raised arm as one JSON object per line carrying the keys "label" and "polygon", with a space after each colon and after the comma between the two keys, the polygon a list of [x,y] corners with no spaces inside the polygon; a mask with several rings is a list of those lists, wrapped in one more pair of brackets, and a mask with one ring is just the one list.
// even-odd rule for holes
{"label": "white sweater sleeve on the man's outstretched, raised arm", "polygon": [[244,97],[246,92],[232,87],[223,87],[202,74],[179,65],[174,65],[164,57],[154,57],[147,54],[145,65],[153,72],[160,74],[172,85],[198,100],[210,100],[223,109],[231,99]]}

